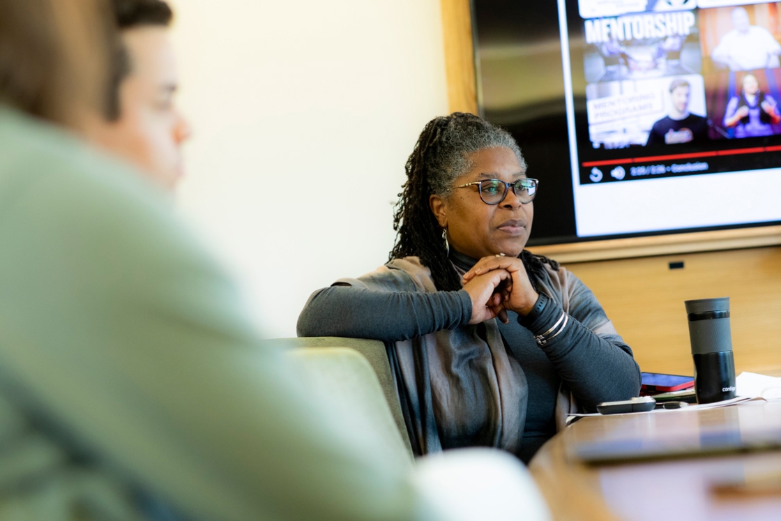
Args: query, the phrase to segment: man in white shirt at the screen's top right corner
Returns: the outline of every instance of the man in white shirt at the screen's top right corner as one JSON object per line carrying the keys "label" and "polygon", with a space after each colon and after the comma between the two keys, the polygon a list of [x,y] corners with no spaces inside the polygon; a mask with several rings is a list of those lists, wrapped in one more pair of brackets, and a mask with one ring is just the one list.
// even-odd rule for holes
{"label": "man in white shirt at the screen's top right corner", "polygon": [[736,7],[732,12],[734,29],[722,36],[713,49],[711,60],[729,70],[775,68],[779,64],[781,45],[765,27],[751,25],[748,12]]}

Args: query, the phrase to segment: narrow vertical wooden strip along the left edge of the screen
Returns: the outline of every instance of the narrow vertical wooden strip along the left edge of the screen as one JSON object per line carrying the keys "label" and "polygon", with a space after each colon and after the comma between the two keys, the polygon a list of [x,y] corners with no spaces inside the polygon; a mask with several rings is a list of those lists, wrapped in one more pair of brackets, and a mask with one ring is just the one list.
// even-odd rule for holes
{"label": "narrow vertical wooden strip along the left edge of the screen", "polygon": [[477,113],[472,12],[469,0],[441,0],[450,112]]}

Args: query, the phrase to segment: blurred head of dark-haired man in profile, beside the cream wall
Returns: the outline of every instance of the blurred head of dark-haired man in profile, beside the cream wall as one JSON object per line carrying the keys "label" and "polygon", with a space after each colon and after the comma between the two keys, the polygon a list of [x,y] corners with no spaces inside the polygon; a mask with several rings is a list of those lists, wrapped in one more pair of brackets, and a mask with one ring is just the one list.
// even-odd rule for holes
{"label": "blurred head of dark-haired man in profile, beside the cream wall", "polygon": [[120,31],[106,119],[98,143],[173,190],[184,174],[181,145],[190,127],[174,105],[179,87],[169,38],[173,12],[161,0],[111,0]]}

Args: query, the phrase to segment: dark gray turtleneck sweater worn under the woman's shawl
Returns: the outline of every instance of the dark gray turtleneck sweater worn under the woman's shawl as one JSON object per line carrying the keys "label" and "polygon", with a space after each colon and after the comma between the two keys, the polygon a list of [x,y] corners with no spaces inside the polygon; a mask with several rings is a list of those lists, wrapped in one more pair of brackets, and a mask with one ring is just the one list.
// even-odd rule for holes
{"label": "dark gray turtleneck sweater worn under the woman's shawl", "polygon": [[[476,262],[452,251],[451,260],[465,270]],[[572,280],[569,323],[555,342],[540,346],[534,340],[534,335],[549,330],[562,316],[562,307],[552,299],[546,299],[542,309],[536,306],[529,316],[509,312],[510,322],[499,323],[505,345],[520,362],[529,386],[519,451],[524,462],[555,434],[554,409],[562,380],[587,410],[594,410],[601,401],[637,396],[640,389],[640,370],[632,350],[621,337],[601,337],[584,325],[604,323],[607,318],[594,294],[572,273],[567,277]],[[472,301],[464,290],[381,292],[334,285],[312,294],[298,318],[298,335],[388,343],[461,327],[471,316]]]}

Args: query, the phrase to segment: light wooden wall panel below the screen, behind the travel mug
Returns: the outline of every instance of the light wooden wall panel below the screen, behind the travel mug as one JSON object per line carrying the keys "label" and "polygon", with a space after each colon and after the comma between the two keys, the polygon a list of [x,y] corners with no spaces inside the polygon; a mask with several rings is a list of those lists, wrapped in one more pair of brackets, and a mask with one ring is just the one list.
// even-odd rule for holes
{"label": "light wooden wall panel below the screen, behind the travel mug", "polygon": [[[670,269],[669,262],[684,262]],[[566,265],[634,351],[640,369],[691,374],[683,301],[729,297],[736,371],[781,376],[781,248]]]}

